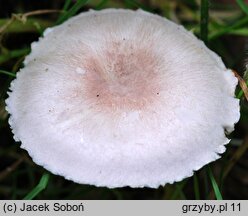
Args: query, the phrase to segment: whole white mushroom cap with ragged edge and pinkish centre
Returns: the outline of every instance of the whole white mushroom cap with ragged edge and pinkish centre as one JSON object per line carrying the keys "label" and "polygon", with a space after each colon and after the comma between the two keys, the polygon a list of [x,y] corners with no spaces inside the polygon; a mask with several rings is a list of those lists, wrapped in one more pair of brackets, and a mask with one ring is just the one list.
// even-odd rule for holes
{"label": "whole white mushroom cap with ragged edge and pinkish centre", "polygon": [[182,26],[106,9],[45,31],[6,102],[37,164],[78,183],[156,188],[225,151],[240,116],[236,85]]}

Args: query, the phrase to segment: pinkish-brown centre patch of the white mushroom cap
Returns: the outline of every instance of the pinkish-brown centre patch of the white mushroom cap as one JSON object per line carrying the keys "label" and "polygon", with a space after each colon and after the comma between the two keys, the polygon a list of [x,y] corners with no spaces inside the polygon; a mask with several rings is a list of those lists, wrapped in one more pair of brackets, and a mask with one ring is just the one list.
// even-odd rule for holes
{"label": "pinkish-brown centre patch of the white mushroom cap", "polygon": [[107,110],[139,110],[159,94],[158,60],[153,50],[126,40],[85,58],[82,86],[87,100]]}

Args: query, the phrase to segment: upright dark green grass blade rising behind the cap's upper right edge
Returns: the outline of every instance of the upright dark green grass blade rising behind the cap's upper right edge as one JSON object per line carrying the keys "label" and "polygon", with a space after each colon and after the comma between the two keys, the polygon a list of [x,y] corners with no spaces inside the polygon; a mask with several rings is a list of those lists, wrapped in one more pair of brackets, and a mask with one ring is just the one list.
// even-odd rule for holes
{"label": "upright dark green grass blade rising behind the cap's upper right edge", "polygon": [[208,43],[208,0],[201,0],[201,39]]}

